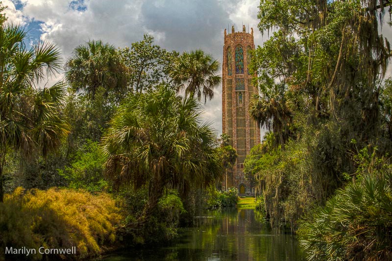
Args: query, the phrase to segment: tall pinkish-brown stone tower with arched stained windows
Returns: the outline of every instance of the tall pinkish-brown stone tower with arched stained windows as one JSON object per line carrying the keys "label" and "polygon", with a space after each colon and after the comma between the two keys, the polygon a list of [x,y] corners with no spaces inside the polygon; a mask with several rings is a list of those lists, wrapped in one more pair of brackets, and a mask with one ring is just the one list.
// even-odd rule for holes
{"label": "tall pinkish-brown stone tower with arched stained windows", "polygon": [[[244,178],[244,160],[250,149],[260,143],[260,128],[249,117],[249,101],[257,88],[252,85],[248,70],[250,51],[254,50],[253,28],[250,33],[243,26],[242,32],[231,33],[224,29],[222,64],[222,133],[230,136],[231,145],[237,150],[237,162],[228,175],[227,187],[237,187],[240,194],[253,193]],[[226,178],[222,186],[226,186]]]}

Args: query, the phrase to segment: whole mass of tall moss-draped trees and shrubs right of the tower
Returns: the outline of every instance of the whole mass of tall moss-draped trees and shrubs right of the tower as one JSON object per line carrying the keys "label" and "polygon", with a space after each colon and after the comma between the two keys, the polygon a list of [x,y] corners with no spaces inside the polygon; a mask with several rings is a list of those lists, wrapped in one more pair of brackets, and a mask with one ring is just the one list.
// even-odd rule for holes
{"label": "whole mass of tall moss-draped trees and shrubs right of the tower", "polygon": [[[253,97],[250,114],[270,133],[244,171],[273,225],[294,231],[302,215],[391,151],[391,82],[380,84],[390,44],[379,33],[389,4],[261,1],[259,29],[274,32],[253,52],[261,96]],[[369,158],[358,147],[378,150]]]}

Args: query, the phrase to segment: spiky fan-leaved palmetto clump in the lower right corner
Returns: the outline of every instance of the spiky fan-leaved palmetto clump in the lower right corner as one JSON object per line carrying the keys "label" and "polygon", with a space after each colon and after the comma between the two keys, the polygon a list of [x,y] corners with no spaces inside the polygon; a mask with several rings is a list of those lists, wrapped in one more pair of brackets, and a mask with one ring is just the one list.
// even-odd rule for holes
{"label": "spiky fan-leaved palmetto clump in the lower right corner", "polygon": [[359,158],[362,178],[338,189],[298,231],[309,260],[392,258],[392,165],[364,150]]}

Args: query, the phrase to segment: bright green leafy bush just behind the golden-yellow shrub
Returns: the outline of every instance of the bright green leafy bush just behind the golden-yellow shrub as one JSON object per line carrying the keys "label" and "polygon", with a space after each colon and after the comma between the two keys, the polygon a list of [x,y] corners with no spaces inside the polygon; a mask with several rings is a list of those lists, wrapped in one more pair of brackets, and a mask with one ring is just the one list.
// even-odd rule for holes
{"label": "bright green leafy bush just behind the golden-yellow shrub", "polygon": [[107,182],[103,179],[105,157],[99,150],[98,142],[86,140],[83,148],[75,153],[70,167],[58,170],[68,181],[68,187],[86,189],[89,192],[102,191]]}

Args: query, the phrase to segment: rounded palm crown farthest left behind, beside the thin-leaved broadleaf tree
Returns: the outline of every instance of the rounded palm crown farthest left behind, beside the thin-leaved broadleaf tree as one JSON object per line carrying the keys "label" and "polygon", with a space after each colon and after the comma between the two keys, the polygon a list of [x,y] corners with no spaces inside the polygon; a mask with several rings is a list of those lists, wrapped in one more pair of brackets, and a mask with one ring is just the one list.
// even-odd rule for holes
{"label": "rounded palm crown farthest left behind, beside the thin-leaved broadleaf tree", "polygon": [[122,91],[126,86],[125,67],[116,48],[100,40],[76,47],[65,68],[73,89],[85,91],[93,100],[98,87],[109,92]]}

